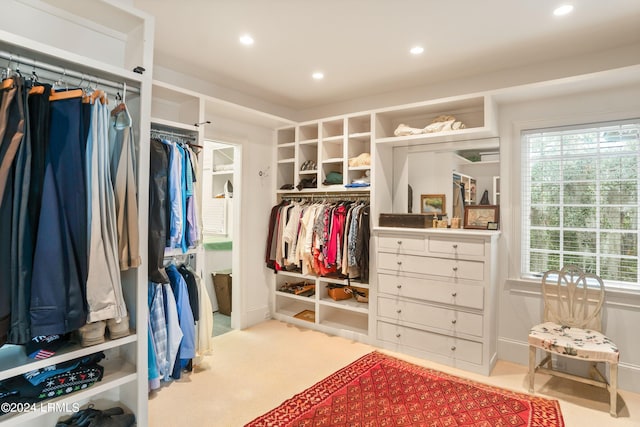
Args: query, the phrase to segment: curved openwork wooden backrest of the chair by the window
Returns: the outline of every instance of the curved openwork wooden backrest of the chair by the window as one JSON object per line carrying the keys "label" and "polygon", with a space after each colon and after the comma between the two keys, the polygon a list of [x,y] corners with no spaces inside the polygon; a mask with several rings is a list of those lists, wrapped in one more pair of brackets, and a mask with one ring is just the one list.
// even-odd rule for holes
{"label": "curved openwork wooden backrest of the chair by the window", "polygon": [[595,274],[574,265],[542,276],[544,320],[573,328],[602,331],[604,283]]}

